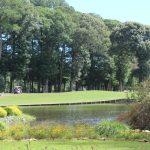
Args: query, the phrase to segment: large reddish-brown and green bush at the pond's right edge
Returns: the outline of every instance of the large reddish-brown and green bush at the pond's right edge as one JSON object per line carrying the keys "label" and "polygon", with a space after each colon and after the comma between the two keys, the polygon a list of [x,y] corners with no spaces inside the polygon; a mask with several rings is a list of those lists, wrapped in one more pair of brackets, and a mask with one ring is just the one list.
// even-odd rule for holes
{"label": "large reddish-brown and green bush at the pond's right edge", "polygon": [[130,111],[118,119],[128,123],[133,129],[150,130],[150,80],[134,89],[132,98],[136,100]]}

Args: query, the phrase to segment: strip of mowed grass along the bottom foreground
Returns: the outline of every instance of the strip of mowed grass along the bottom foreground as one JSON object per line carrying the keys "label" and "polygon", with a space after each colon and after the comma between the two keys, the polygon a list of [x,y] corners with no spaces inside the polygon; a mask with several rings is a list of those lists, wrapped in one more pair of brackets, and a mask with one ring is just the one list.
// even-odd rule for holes
{"label": "strip of mowed grass along the bottom foreground", "polygon": [[125,141],[0,142],[0,150],[150,150],[150,143]]}

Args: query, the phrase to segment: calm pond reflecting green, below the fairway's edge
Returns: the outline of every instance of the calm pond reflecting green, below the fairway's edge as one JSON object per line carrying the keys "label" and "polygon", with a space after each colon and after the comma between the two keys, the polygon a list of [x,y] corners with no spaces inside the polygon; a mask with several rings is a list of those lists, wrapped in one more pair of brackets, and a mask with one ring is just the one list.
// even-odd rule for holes
{"label": "calm pond reflecting green, below the fairway's edge", "polygon": [[97,124],[101,120],[116,119],[122,112],[129,110],[128,105],[95,104],[70,106],[28,106],[22,107],[24,113],[37,118],[41,122],[74,124]]}

